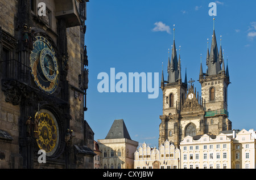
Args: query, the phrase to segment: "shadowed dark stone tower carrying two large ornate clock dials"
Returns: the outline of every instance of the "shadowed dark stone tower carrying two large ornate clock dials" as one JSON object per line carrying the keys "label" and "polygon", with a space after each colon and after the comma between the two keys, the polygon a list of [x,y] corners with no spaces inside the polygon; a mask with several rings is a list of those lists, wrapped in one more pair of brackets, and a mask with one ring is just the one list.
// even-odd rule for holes
{"label": "shadowed dark stone tower carrying two large ornate clock dials", "polygon": [[0,2],[0,168],[93,168],[87,2]]}

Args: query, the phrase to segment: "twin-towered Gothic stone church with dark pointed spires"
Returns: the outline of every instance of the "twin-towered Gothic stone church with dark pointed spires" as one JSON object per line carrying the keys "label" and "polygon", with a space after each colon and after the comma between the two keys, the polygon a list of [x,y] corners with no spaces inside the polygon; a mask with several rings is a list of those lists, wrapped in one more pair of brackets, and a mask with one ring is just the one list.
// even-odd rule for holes
{"label": "twin-towered Gothic stone church with dark pointed spires", "polygon": [[222,48],[217,48],[215,31],[212,45],[208,48],[207,72],[200,67],[199,82],[201,96],[194,87],[195,80],[181,80],[181,59],[172,46],[171,61],[168,59],[168,80],[162,72],[163,115],[160,115],[159,146],[166,140],[179,147],[186,136],[197,137],[203,134],[218,135],[221,131],[232,130],[228,119],[229,70],[224,66]]}

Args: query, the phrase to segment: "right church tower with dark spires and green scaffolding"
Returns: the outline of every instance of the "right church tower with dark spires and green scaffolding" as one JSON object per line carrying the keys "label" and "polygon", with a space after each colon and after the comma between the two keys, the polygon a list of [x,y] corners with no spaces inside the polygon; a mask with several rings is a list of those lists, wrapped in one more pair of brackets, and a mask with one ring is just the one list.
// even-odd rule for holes
{"label": "right church tower with dark spires and green scaffolding", "polygon": [[231,130],[231,122],[228,119],[229,71],[228,66],[225,70],[221,45],[218,51],[215,29],[213,29],[210,53],[209,46],[207,49],[207,72],[203,72],[201,65],[199,82],[208,123],[206,132],[218,134],[220,131]]}

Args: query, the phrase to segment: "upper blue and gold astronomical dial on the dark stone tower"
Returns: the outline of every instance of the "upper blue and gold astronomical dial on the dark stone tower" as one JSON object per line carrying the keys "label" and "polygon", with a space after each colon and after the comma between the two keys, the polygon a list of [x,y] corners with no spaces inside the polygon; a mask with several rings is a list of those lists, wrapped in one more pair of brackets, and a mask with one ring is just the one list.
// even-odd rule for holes
{"label": "upper blue and gold astronomical dial on the dark stone tower", "polygon": [[56,54],[49,41],[42,36],[35,37],[30,67],[36,85],[48,94],[55,92],[59,83]]}

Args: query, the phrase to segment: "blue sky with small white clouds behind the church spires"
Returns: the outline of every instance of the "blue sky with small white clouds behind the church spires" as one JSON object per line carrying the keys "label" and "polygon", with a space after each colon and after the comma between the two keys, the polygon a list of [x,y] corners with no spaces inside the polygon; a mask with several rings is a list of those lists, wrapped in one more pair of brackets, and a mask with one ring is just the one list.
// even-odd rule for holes
{"label": "blue sky with small white clouds behind the church spires", "polygon": [[[222,36],[225,65],[228,57],[229,119],[233,128],[256,130],[256,1],[152,1],[91,0],[87,5],[85,44],[89,58],[89,89],[85,119],[94,131],[94,139],[104,139],[114,119],[124,119],[131,139],[158,147],[159,115],[162,115],[162,90],[156,99],[147,93],[100,93],[100,72],[159,72],[167,77],[168,49],[175,42],[181,46],[184,81],[199,79],[202,54],[206,70],[207,38],[211,43],[213,17],[210,2],[217,4],[215,21],[218,48]],[[179,54],[179,50],[177,52]],[[117,81],[116,81],[117,82]]]}

